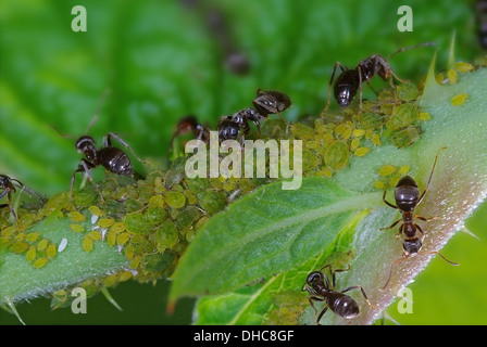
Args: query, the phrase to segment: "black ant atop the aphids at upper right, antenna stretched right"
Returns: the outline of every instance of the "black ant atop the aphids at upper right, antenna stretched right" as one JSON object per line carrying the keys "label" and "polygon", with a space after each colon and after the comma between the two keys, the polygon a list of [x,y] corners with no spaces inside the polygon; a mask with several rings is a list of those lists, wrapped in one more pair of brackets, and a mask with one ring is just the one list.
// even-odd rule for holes
{"label": "black ant atop the aphids at upper right, antenna stretched right", "polygon": [[[412,47],[401,48],[395,53],[390,54],[388,59],[391,56],[410,49],[414,49],[422,46],[433,46],[433,42],[421,43]],[[357,91],[360,91],[359,99],[359,121],[362,121],[362,90],[363,82],[366,82],[369,87],[369,80],[378,75],[384,80],[389,80],[390,86],[395,89],[392,77],[404,83],[405,81],[400,79],[392,70],[390,65],[387,63],[386,59],[378,54],[373,54],[367,59],[362,60],[354,69],[349,69],[344,67],[340,62],[336,62],[333,68],[332,78],[328,83],[328,101],[326,103],[325,110],[322,112],[322,117],[324,117],[326,111],[329,107],[330,102],[330,86],[335,78],[335,73],[337,67],[341,69],[341,74],[337,77],[334,86],[334,95],[337,103],[346,108],[353,100],[357,94]],[[371,87],[372,89],[372,87]]]}

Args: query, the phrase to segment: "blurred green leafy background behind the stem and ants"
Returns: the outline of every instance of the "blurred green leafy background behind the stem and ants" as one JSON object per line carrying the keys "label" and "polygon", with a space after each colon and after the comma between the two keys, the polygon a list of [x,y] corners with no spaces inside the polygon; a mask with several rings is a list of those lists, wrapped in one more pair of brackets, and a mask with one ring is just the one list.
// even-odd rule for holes
{"label": "blurred green leafy background behind the stem and ants", "polygon": [[[75,33],[72,9],[78,4],[86,9],[87,30]],[[374,53],[387,56],[434,41],[439,70],[453,31],[458,60],[485,54],[475,34],[474,1],[400,4],[413,10],[412,33],[398,30],[399,3],[389,0],[2,0],[0,172],[45,195],[67,190],[80,155],[75,140],[51,126],[74,138],[85,133],[107,90],[89,133],[101,144],[109,131],[117,132],[138,156],[166,163],[178,118],[195,114],[214,128],[222,115],[250,106],[258,88],[289,94],[290,120],[319,114],[336,61],[353,67]],[[434,51],[408,51],[390,64],[399,77],[417,81]],[[413,313],[399,314],[392,305],[389,314],[401,324],[486,324],[486,224],[482,206],[467,222],[479,240],[459,233],[442,250],[461,266],[434,259],[410,285]],[[51,312],[41,298],[17,310],[27,324],[189,323],[189,299],[165,314],[167,287],[121,284],[111,292],[123,312],[101,295],[88,301],[84,316]],[[18,322],[0,310],[0,323]]]}

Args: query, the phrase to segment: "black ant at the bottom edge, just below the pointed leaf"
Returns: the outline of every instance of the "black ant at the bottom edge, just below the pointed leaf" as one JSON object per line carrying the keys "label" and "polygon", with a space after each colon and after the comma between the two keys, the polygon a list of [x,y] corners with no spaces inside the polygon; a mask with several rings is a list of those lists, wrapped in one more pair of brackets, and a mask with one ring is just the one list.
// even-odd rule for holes
{"label": "black ant at the bottom edge, just below the pointed leaf", "polygon": [[[329,272],[332,275],[332,284],[329,283],[328,275],[323,272],[323,269],[329,268]],[[353,285],[345,288],[341,292],[335,291],[336,286],[336,273],[337,272],[344,272],[350,270],[350,266],[348,269],[344,270],[333,270],[332,265],[328,264],[327,266],[324,266],[319,271],[313,271],[310,274],[308,274],[307,278],[307,284],[303,285],[301,288],[302,292],[308,291],[311,296],[308,298],[310,301],[311,307],[313,307],[314,311],[317,313],[316,308],[314,307],[313,301],[325,301],[326,307],[320,312],[316,319],[316,324],[320,324],[320,320],[322,319],[323,314],[326,313],[328,308],[337,316],[345,318],[345,319],[352,319],[360,313],[360,308],[357,301],[351,298],[350,296],[346,295],[345,293],[360,288],[362,292],[362,296],[364,297],[365,301],[369,304],[370,307],[377,309],[374,307],[371,301],[369,300],[367,295],[365,294],[365,291],[361,285]]]}

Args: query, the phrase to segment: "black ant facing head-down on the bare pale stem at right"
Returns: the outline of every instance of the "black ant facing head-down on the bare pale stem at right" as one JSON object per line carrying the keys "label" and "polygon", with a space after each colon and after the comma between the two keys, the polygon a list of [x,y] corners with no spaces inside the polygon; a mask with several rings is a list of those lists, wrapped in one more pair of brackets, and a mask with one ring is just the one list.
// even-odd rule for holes
{"label": "black ant facing head-down on the bare pale stem at right", "polygon": [[424,239],[424,232],[423,229],[414,222],[414,219],[417,218],[423,221],[430,221],[434,219],[438,219],[438,217],[433,218],[425,218],[417,215],[414,215],[414,208],[417,207],[417,205],[421,204],[423,201],[428,188],[429,183],[433,178],[433,172],[435,171],[436,163],[438,160],[439,153],[447,147],[441,147],[438,153],[436,154],[435,162],[433,164],[432,171],[429,174],[428,181],[426,183],[426,188],[424,189],[423,193],[420,194],[420,189],[417,188],[416,182],[414,179],[412,179],[410,176],[404,176],[399,180],[395,188],[395,200],[396,205],[389,203],[386,200],[386,193],[387,188],[384,190],[383,194],[383,201],[386,203],[387,206],[392,207],[395,209],[399,209],[401,213],[401,218],[396,220],[392,224],[390,224],[387,228],[383,228],[380,230],[388,230],[396,227],[399,222],[402,221],[402,224],[399,227],[399,234],[398,236],[404,235],[404,240],[402,242],[402,258],[399,258],[395,262],[392,262],[390,267],[390,273],[389,279],[387,280],[386,284],[383,286],[383,290],[387,286],[390,280],[390,275],[392,273],[392,268],[399,261],[402,261],[404,259],[408,259],[410,255],[414,254],[438,254],[441,258],[444,258],[447,262],[457,266],[458,264],[452,262],[445,258],[439,252],[422,252],[420,253],[420,249],[423,245],[423,239]]}

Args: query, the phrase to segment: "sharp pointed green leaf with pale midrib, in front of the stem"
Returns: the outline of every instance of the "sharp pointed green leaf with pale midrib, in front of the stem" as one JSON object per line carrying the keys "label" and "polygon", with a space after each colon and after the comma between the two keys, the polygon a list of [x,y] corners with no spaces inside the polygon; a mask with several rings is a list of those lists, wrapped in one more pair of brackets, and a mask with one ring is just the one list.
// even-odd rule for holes
{"label": "sharp pointed green leaf with pale midrib, in front of the stem", "polygon": [[265,185],[197,233],[175,271],[171,299],[225,293],[301,265],[379,196],[352,194],[323,178],[303,179],[296,191],[280,182]]}

